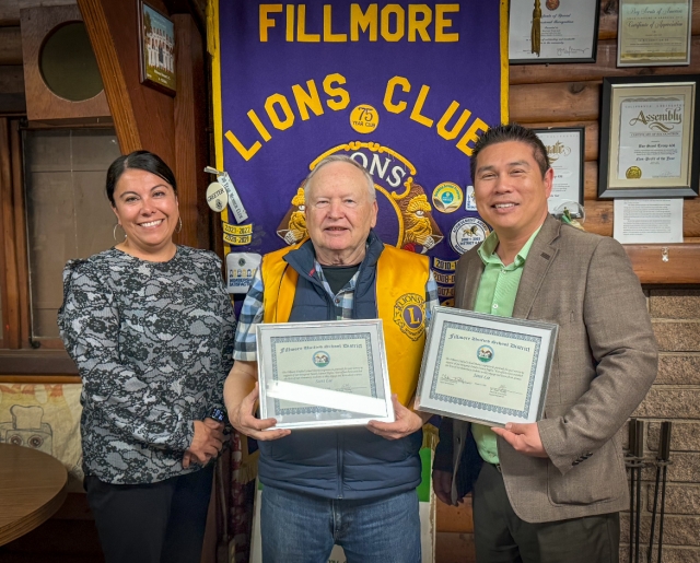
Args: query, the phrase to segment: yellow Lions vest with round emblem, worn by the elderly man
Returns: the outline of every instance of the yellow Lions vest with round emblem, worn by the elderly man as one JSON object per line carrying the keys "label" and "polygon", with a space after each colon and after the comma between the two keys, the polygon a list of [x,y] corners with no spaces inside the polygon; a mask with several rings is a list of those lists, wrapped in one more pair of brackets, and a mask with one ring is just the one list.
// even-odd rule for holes
{"label": "yellow Lions vest with round emblem, worn by the elderly man", "polygon": [[[301,246],[265,255],[262,321],[287,322],[294,304],[299,273],[284,256]],[[389,385],[404,406],[412,401],[425,342],[425,283],[430,274],[427,256],[385,246],[376,266],[375,295],[383,320]]]}

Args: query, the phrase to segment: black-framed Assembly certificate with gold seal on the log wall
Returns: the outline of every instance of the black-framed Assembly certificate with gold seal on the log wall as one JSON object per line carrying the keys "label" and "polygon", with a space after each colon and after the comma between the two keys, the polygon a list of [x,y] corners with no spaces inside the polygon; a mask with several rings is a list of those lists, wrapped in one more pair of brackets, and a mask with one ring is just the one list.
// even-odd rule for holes
{"label": "black-framed Assembly certificate with gold seal on the log wall", "polygon": [[603,80],[599,198],[698,195],[698,79]]}

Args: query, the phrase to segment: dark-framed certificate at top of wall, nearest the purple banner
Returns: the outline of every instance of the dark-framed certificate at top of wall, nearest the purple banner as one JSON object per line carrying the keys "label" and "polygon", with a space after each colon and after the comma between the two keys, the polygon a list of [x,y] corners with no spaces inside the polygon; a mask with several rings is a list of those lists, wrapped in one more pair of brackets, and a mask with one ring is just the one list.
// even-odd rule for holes
{"label": "dark-framed certificate at top of wall, nearest the purple banner", "polygon": [[595,62],[600,0],[511,0],[509,61]]}

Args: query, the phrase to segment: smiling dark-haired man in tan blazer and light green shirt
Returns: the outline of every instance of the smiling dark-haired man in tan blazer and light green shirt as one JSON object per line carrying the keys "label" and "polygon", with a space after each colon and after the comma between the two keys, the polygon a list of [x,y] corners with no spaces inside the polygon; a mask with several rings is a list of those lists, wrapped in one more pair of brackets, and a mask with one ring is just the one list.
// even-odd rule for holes
{"label": "smiling dark-haired man in tan blazer and light green shirt", "polygon": [[544,419],[489,429],[444,419],[438,496],[472,490],[479,563],[617,562],[629,504],[618,431],[649,390],[657,353],[644,295],[616,241],[548,214],[553,171],[517,125],[471,156],[493,233],[459,260],[456,306],[559,325]]}

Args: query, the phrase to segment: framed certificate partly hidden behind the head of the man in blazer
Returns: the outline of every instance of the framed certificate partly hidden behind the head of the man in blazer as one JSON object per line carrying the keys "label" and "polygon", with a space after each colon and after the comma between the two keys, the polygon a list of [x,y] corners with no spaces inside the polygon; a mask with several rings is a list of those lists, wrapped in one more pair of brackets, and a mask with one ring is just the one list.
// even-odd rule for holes
{"label": "framed certificate partly hidden behind the head of the man in blazer", "polygon": [[545,144],[549,164],[555,171],[555,185],[547,200],[549,212],[555,213],[564,201],[575,201],[583,206],[585,129],[551,127],[534,131]]}

